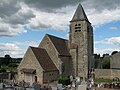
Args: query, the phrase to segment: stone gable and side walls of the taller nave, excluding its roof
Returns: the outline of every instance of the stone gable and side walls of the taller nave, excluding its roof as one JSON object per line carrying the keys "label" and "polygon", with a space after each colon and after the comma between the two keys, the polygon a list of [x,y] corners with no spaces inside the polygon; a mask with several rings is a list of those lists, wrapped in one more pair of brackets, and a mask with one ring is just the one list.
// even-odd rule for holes
{"label": "stone gable and side walls of the taller nave, excluding its roof", "polygon": [[[50,40],[50,38],[46,35],[43,40],[41,41],[40,48],[44,48],[47,53],[49,54],[50,58],[52,59],[53,63],[59,70],[60,74],[63,74],[65,76],[70,76],[71,75],[71,60],[70,56],[61,56],[59,55],[57,49],[55,48],[54,44]],[[61,67],[61,64],[63,63],[63,67]],[[64,68],[64,72],[62,72],[62,69]]]}

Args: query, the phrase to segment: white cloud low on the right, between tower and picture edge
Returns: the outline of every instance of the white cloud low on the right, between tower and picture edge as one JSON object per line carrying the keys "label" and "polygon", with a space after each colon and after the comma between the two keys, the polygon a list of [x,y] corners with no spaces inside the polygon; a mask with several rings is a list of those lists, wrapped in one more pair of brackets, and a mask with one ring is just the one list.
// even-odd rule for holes
{"label": "white cloud low on the right, between tower and picture edge", "polygon": [[[105,38],[101,41],[95,41],[95,46],[101,45],[107,46],[107,48],[94,48],[95,53],[97,54],[105,54],[109,53],[111,54],[113,51],[120,51],[120,37],[111,37],[111,38]],[[110,45],[110,47],[108,46]]]}

